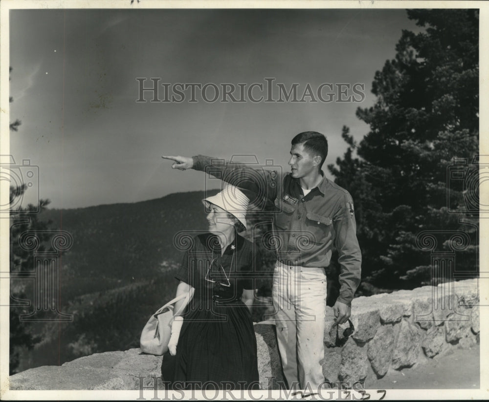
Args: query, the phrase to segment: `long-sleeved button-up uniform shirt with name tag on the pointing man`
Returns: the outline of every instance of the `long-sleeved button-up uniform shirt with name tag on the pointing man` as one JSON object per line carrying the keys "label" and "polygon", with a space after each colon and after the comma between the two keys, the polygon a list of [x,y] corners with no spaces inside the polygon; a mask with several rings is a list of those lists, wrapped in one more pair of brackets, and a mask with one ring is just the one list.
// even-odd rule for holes
{"label": "long-sleeved button-up uniform shirt with name tag on the pointing man", "polygon": [[[194,156],[193,169],[203,170],[256,197],[273,203],[277,259],[287,265],[327,267],[333,246],[340,264],[338,301],[351,305],[360,283],[361,252],[356,238],[353,200],[347,190],[326,177],[307,195],[290,173],[252,168],[208,156]],[[322,173],[322,172],[321,172]]]}

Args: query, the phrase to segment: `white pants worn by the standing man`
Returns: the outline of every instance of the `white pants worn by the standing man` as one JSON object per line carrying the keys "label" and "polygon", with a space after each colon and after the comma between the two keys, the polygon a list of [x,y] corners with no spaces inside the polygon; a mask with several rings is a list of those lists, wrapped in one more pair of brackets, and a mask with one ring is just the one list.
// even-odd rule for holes
{"label": "white pants worn by the standing man", "polygon": [[324,382],[324,268],[275,264],[273,306],[282,368],[289,388],[317,389]]}

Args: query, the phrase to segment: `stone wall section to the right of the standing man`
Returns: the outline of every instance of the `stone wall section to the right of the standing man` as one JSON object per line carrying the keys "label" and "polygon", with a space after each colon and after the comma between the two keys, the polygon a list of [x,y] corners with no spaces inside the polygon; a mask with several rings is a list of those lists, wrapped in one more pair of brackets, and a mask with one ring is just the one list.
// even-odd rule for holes
{"label": "stone wall section to the right of the standing man", "polygon": [[[422,364],[453,347],[469,348],[479,343],[478,304],[477,279],[357,297],[355,333],[342,348],[334,346],[333,313],[327,313],[323,374],[328,381],[362,381],[368,387],[389,370]],[[342,327],[347,325],[340,327],[340,337]]]}

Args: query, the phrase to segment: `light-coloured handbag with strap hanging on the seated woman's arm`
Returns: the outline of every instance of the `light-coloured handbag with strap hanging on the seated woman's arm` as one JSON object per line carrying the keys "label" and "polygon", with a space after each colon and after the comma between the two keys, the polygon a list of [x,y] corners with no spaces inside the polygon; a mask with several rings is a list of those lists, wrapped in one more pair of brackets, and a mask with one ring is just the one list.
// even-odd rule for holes
{"label": "light-coloured handbag with strap hanging on the seated woman's arm", "polygon": [[[173,298],[164,306],[160,307],[156,313],[150,317],[144,326],[143,331],[141,332],[141,338],[139,339],[141,352],[161,356],[168,351],[168,342],[170,341],[172,330],[173,304],[186,297],[190,299],[190,293],[184,293],[183,295]],[[187,303],[182,306],[182,309],[186,304]]]}

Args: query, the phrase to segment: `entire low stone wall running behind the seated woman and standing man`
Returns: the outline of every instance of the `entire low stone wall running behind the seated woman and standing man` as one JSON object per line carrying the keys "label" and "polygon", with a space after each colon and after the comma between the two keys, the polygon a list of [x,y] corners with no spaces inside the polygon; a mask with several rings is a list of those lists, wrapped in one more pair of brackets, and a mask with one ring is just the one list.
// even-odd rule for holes
{"label": "entire low stone wall running behind the seated woman and standing man", "polygon": [[[327,308],[323,374],[327,381],[353,384],[383,377],[389,370],[422,364],[479,342],[478,281],[470,279],[370,297],[352,303],[355,333],[336,347],[333,310]],[[339,334],[343,333],[343,325]],[[260,381],[276,388],[284,381],[272,325],[255,326]],[[159,378],[161,357],[139,349],[97,353],[61,366],[44,366],[10,377],[12,390],[129,390]],[[160,381],[160,380],[158,380]],[[160,388],[161,389],[161,388]]]}

